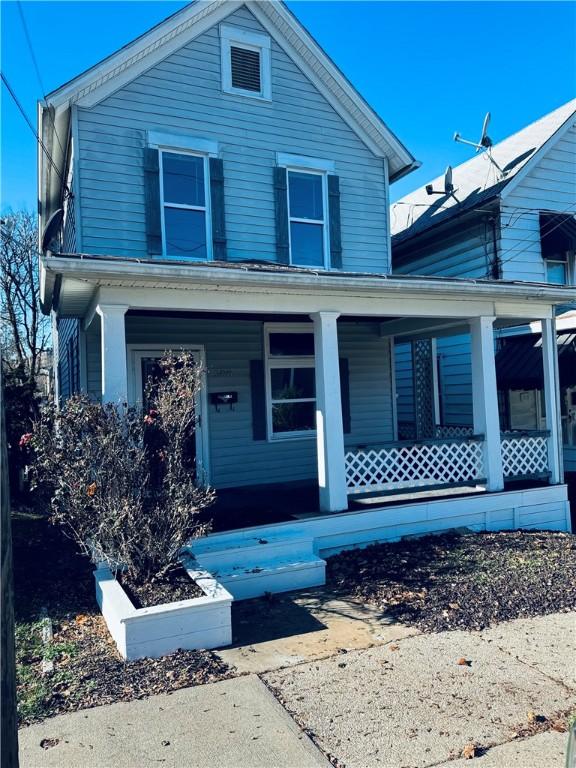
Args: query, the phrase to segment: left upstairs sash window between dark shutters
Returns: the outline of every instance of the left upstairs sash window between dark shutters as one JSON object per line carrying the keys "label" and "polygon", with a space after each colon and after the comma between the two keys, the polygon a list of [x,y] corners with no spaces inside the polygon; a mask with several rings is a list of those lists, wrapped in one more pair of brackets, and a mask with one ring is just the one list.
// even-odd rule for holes
{"label": "left upstairs sash window between dark shutters", "polygon": [[207,158],[160,152],[164,252],[174,258],[208,258]]}

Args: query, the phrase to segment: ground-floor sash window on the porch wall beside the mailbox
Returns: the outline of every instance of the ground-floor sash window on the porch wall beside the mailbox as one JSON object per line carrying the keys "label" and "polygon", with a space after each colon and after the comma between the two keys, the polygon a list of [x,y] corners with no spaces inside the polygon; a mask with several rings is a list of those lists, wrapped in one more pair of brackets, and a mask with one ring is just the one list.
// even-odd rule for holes
{"label": "ground-floor sash window on the porch wall beside the mailbox", "polygon": [[312,436],[316,429],[313,332],[267,329],[266,378],[269,437]]}

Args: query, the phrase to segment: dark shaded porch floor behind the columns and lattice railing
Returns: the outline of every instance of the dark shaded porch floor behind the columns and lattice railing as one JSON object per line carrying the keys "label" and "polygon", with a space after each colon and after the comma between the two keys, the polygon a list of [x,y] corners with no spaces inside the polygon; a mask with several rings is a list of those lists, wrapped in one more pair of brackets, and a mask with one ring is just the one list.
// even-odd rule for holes
{"label": "dark shaded porch floor behind the columns and lattice railing", "polygon": [[[505,491],[518,491],[546,486],[546,482],[523,480],[506,483]],[[422,488],[393,493],[366,493],[348,498],[349,512],[368,511],[373,507],[393,504],[413,504],[427,499],[440,501],[486,493],[483,485],[447,488]],[[346,511],[346,510],[343,510]],[[315,482],[278,483],[242,488],[225,488],[216,492],[215,503],[203,517],[212,521],[212,531],[233,531],[259,525],[284,523],[332,513],[322,513]]]}

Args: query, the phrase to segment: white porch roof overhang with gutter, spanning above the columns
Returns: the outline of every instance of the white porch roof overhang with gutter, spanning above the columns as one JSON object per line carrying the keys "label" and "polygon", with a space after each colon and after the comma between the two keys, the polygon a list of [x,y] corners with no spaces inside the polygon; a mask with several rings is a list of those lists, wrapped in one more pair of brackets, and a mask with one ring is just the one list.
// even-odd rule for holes
{"label": "white porch roof overhang with gutter, spanning above the columns", "polygon": [[[57,290],[56,290],[57,289]],[[277,265],[135,262],[94,256],[41,260],[44,307],[88,318],[99,303],[133,309],[505,321],[549,319],[576,289],[536,283],[332,273]],[[56,301],[54,299],[56,298]]]}

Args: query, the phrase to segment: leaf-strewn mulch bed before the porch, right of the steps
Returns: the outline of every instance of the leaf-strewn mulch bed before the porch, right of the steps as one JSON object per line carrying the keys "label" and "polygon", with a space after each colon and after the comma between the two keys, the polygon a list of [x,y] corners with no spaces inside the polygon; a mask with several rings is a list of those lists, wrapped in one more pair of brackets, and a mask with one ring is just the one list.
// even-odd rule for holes
{"label": "leaf-strewn mulch bed before the porch, right of the steps", "polygon": [[576,536],[448,533],[343,552],[327,584],[423,632],[576,609]]}

